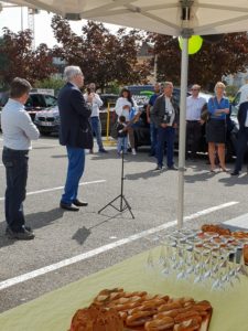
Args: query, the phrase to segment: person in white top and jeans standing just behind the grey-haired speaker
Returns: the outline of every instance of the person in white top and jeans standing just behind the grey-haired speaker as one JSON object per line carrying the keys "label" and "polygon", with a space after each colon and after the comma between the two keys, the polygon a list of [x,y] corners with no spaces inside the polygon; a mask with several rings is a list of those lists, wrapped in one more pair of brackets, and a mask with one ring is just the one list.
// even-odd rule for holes
{"label": "person in white top and jeans standing just behind the grey-haired speaker", "polygon": [[99,115],[100,114],[99,107],[101,107],[104,103],[95,90],[96,90],[96,84],[90,83],[87,87],[87,93],[84,94],[84,98],[86,103],[88,102],[89,96],[93,98],[90,125],[93,128],[93,132],[95,134],[97,139],[98,151],[100,153],[107,153],[107,150],[104,148],[104,143],[101,140],[101,122],[100,122],[100,115]]}

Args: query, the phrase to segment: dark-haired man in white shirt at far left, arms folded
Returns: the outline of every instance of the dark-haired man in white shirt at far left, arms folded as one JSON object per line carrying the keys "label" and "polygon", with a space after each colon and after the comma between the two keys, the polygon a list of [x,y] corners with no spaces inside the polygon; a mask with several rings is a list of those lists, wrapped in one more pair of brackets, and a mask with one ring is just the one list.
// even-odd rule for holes
{"label": "dark-haired man in white shirt at far left, arms folded", "polygon": [[9,238],[29,241],[34,238],[25,226],[23,201],[28,180],[28,163],[31,140],[40,136],[30,115],[24,109],[31,85],[22,78],[14,78],[10,86],[10,98],[2,109],[3,135],[2,163],[6,167],[6,234]]}

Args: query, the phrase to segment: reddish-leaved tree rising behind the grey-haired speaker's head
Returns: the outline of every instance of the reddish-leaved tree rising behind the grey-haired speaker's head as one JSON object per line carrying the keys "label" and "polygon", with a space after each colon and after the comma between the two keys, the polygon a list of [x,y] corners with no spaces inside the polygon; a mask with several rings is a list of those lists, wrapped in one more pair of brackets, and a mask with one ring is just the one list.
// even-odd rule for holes
{"label": "reddish-leaved tree rising behind the grey-haired speaker's head", "polygon": [[149,65],[139,65],[138,31],[127,33],[120,29],[111,34],[101,23],[88,21],[76,35],[68,22],[53,17],[52,28],[61,46],[54,47],[55,56],[68,64],[82,67],[86,83],[95,82],[101,90],[109,83],[131,84],[143,82],[149,74]]}

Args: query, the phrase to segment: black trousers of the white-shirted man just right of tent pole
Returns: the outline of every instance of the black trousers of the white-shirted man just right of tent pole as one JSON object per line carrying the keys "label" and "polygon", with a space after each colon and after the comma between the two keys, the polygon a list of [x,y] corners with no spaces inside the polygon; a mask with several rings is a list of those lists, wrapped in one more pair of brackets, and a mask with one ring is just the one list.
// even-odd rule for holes
{"label": "black trousers of the white-shirted man just right of tent pole", "polygon": [[202,136],[202,126],[198,120],[186,121],[186,152],[191,150],[192,157],[196,156]]}

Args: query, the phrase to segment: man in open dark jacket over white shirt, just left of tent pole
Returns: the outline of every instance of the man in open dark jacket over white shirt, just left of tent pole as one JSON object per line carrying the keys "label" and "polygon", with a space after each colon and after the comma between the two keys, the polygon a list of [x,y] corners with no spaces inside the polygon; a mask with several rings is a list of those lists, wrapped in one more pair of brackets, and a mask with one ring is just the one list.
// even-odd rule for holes
{"label": "man in open dark jacket over white shirt, just left of tent pole", "polygon": [[174,166],[174,138],[175,128],[179,122],[179,106],[172,96],[173,84],[164,83],[164,93],[159,96],[153,107],[153,120],[158,127],[157,158],[158,166],[155,170],[162,170],[164,143],[166,142],[168,170],[177,170]]}

